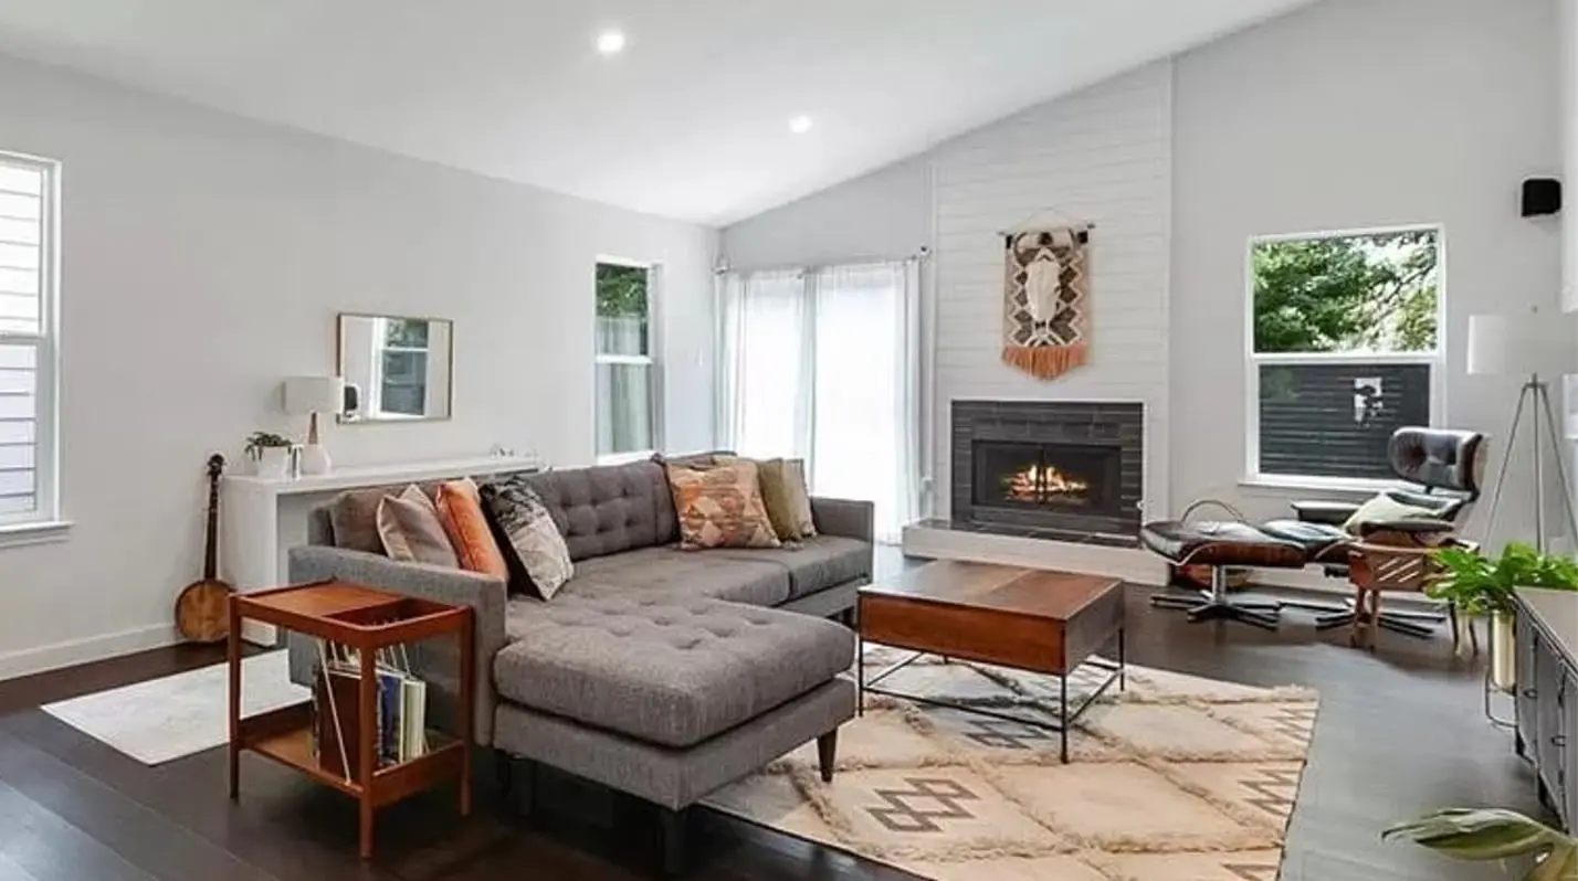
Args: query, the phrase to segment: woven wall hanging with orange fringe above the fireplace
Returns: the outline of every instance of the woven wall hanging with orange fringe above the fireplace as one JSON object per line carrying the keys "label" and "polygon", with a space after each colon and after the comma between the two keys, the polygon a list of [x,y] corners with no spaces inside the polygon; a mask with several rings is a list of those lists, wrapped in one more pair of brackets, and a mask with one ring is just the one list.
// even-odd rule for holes
{"label": "woven wall hanging with orange fringe above the fireplace", "polygon": [[1090,353],[1089,227],[1007,233],[1002,361],[1043,380]]}

